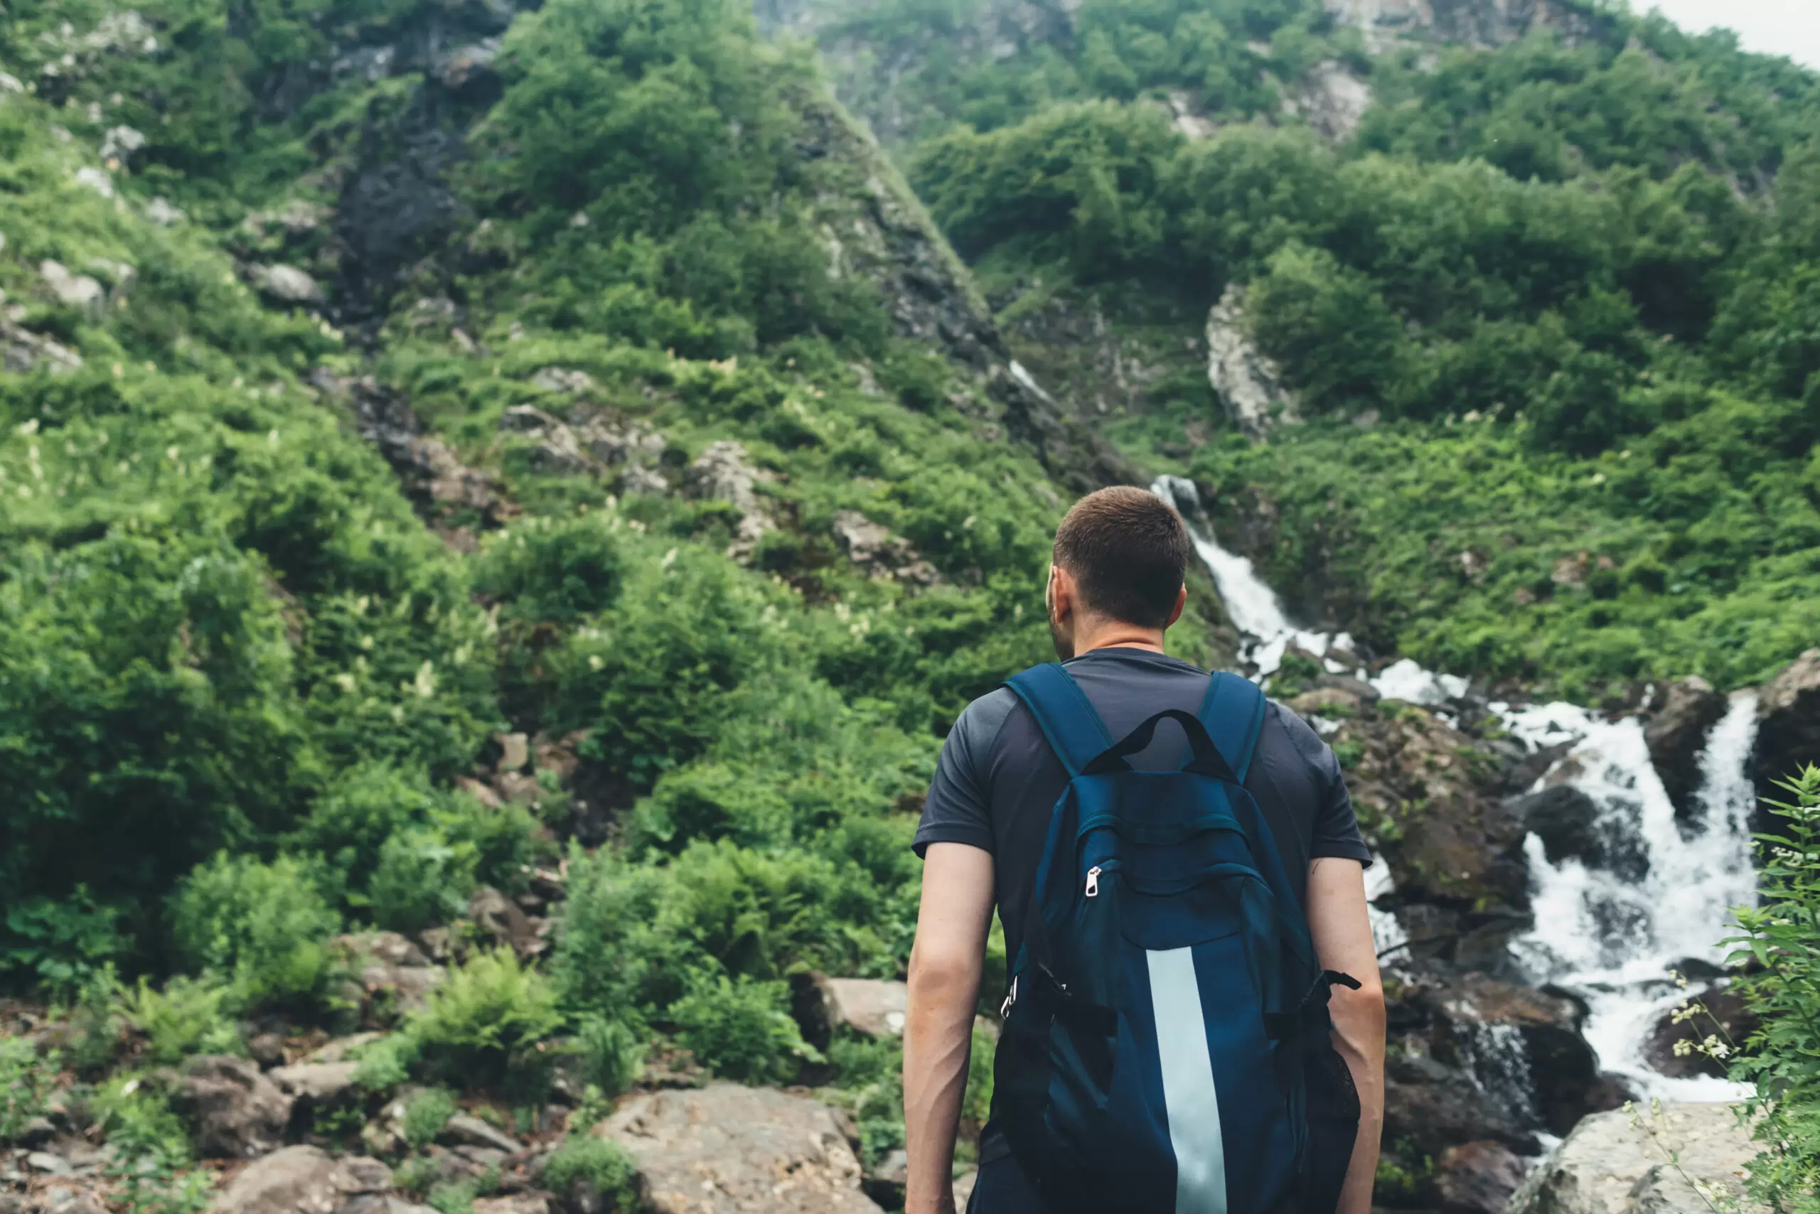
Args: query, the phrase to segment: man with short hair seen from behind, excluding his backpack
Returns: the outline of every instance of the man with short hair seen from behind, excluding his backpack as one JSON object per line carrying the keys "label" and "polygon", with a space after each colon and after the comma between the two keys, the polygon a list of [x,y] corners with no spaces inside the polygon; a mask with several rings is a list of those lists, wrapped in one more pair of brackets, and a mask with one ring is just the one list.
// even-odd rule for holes
{"label": "man with short hair seen from behind, excluding his backpack", "polygon": [[[1156,712],[1196,712],[1207,692],[1207,672],[1163,653],[1163,633],[1187,602],[1190,551],[1176,511],[1136,488],[1090,493],[1056,531],[1046,593],[1056,652],[1116,739]],[[1132,764],[1178,768],[1183,754],[1179,735],[1159,732]],[[915,835],[925,865],[905,1025],[908,1214],[954,1214],[954,1143],[992,910],[997,905],[1006,957],[1016,957],[1050,810],[1067,781],[1030,710],[1008,688],[968,704],[943,746]],[[1296,837],[1276,846],[1292,879],[1305,877],[1298,894],[1320,965],[1360,981],[1358,990],[1334,986],[1330,1005],[1334,1048],[1361,1105],[1338,1214],[1369,1214],[1385,1032],[1363,881],[1370,852],[1334,754],[1279,704],[1265,713],[1245,788],[1279,810],[1272,821],[1296,826]],[[1043,1214],[1016,1158],[986,1138],[972,1209]]]}

